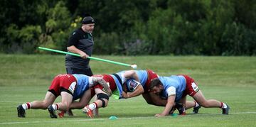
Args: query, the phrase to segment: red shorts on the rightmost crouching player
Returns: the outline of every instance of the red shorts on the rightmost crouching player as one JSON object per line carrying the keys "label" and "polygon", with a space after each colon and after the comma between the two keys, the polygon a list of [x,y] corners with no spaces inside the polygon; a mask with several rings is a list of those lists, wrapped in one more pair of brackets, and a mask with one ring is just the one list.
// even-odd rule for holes
{"label": "red shorts on the rightmost crouching player", "polygon": [[186,89],[183,92],[182,96],[186,96],[186,95],[194,96],[196,94],[196,92],[199,91],[198,85],[196,84],[194,79],[189,77],[188,75],[183,75],[183,74],[181,74],[181,75],[183,77],[185,77],[185,79],[186,79]]}

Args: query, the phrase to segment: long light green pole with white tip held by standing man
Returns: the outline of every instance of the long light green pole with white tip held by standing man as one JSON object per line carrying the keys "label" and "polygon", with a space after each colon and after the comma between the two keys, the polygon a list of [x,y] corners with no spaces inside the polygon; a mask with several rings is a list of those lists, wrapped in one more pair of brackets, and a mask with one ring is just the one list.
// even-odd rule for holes
{"label": "long light green pole with white tip held by standing man", "polygon": [[[61,50],[53,50],[53,49],[50,49],[50,48],[43,48],[43,47],[38,47],[38,49],[48,50],[48,51],[52,51],[52,52],[55,52],[55,53],[63,53],[63,54],[74,55],[74,56],[80,57],[79,54],[64,52],[64,51],[61,51]],[[115,64],[115,65],[123,65],[123,66],[127,66],[127,67],[132,67],[133,69],[137,69],[137,65],[129,65],[129,64],[122,63],[122,62],[115,62],[115,61],[112,61],[112,60],[101,59],[101,58],[98,58],[98,57],[87,57],[87,58],[89,58],[91,60],[98,60],[98,61],[102,61],[102,62],[110,62],[110,63]]]}

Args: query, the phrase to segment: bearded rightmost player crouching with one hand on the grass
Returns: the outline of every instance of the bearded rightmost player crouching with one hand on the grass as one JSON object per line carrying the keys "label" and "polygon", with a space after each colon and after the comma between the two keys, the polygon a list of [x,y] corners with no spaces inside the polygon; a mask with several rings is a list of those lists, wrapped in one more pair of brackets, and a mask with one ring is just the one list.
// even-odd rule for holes
{"label": "bearded rightmost player crouching with one hand on the grass", "polygon": [[[186,95],[192,96],[196,102],[205,108],[218,107],[223,110],[222,114],[227,114],[230,107],[215,99],[207,100],[199,89],[194,79],[188,75],[172,75],[171,77],[158,77],[153,79],[150,84],[150,90],[154,94],[160,95],[167,100],[164,111],[156,114],[156,117],[166,116],[171,111],[174,103],[181,103],[186,106]],[[186,112],[184,112],[186,114]]]}

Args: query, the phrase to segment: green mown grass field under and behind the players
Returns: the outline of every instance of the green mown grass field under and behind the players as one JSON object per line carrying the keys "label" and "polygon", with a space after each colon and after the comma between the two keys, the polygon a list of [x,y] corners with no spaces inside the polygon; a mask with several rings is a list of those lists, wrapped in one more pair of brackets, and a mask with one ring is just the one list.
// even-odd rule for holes
{"label": "green mown grass field under and behind the players", "polygon": [[[189,74],[196,79],[207,99],[230,106],[230,115],[220,109],[201,108],[199,114],[154,118],[163,107],[146,104],[142,96],[114,100],[100,117],[87,118],[80,110],[75,116],[53,119],[45,110],[27,110],[18,118],[16,106],[44,98],[56,74],[65,73],[63,55],[0,55],[0,126],[256,126],[256,57],[197,56],[94,56],[151,69],[161,76]],[[111,74],[128,67],[91,61],[94,74]],[[191,97],[187,97],[191,100]],[[60,101],[60,99],[57,99]],[[117,120],[109,120],[110,116]]]}

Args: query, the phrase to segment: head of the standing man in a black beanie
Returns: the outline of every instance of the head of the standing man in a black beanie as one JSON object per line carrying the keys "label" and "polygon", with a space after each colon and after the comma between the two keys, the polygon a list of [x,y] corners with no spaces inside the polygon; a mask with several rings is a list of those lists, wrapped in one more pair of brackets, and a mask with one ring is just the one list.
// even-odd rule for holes
{"label": "head of the standing man in a black beanie", "polygon": [[84,18],[82,18],[82,29],[87,33],[92,33],[95,26],[95,20],[90,16],[90,14],[86,14]]}

